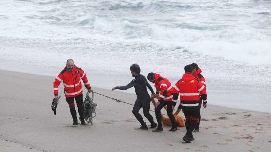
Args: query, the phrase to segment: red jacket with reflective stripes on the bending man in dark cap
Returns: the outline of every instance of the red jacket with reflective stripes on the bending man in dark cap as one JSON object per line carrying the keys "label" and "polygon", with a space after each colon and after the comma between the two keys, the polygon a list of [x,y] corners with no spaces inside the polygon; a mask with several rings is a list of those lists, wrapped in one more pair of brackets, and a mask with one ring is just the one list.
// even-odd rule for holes
{"label": "red jacket with reflective stripes on the bending man in dark cap", "polygon": [[164,99],[164,101],[172,101],[173,86],[170,81],[157,73],[154,73],[154,77],[154,86],[156,88],[156,92],[159,92],[159,100]]}

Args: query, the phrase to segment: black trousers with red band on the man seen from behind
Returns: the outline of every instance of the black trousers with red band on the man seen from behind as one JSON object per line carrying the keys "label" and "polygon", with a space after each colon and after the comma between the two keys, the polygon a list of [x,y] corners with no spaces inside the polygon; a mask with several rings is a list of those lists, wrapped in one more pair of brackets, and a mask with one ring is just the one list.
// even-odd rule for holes
{"label": "black trousers with red band on the man seen from behind", "polygon": [[185,115],[185,127],[186,127],[186,135],[193,136],[192,132],[194,131],[197,123],[199,123],[200,118],[200,108],[195,110],[184,110]]}

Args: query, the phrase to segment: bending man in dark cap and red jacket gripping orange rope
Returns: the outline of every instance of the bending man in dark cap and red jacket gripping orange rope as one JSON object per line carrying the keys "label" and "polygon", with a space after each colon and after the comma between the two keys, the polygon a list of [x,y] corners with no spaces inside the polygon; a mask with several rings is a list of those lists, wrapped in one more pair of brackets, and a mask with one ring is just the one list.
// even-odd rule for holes
{"label": "bending man in dark cap and red jacket gripping orange rope", "polygon": [[152,73],[152,72],[148,73],[147,78],[150,82],[154,83],[154,86],[156,87],[156,93],[159,94],[160,96],[158,103],[156,107],[154,108],[158,127],[156,128],[156,130],[152,132],[163,131],[161,109],[166,105],[167,105],[168,117],[172,122],[172,128],[169,131],[176,131],[177,130],[176,121],[175,121],[175,117],[172,114],[172,111],[173,111],[173,107],[175,107],[176,105],[177,100],[176,101],[174,100],[172,102],[172,97],[173,97],[172,94],[174,90],[173,86],[171,85],[170,81],[167,78],[160,76],[160,74],[157,74],[157,73]]}

